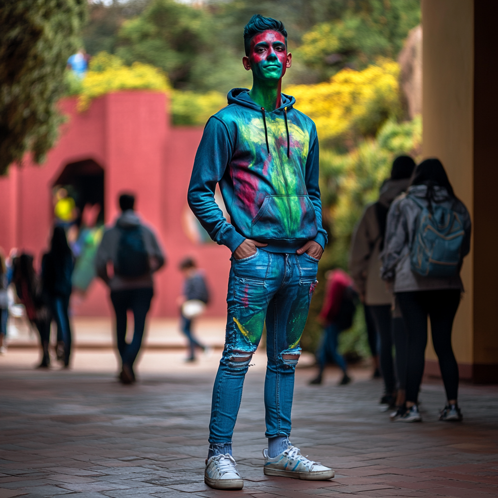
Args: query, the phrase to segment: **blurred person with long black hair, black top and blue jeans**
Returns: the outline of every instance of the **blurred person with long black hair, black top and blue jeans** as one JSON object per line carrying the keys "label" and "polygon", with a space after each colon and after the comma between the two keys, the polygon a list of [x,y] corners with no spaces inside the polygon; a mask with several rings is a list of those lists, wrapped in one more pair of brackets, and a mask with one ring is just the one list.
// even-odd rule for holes
{"label": "blurred person with long black hair, black top and blue jeans", "polygon": [[[41,260],[41,280],[48,293],[52,315],[57,323],[58,359],[69,368],[71,356],[71,325],[69,323],[69,300],[72,292],[74,258],[62,227],[54,227],[50,250]],[[63,355],[61,355],[61,341]],[[61,358],[62,357],[62,358]]]}

